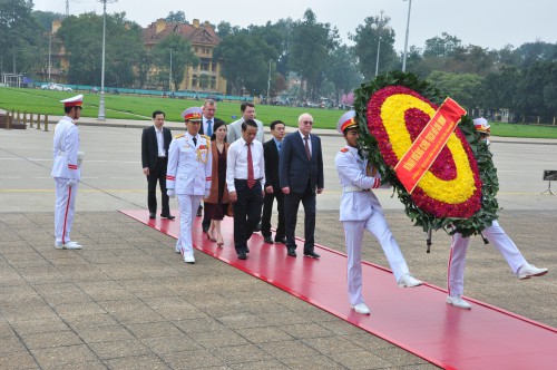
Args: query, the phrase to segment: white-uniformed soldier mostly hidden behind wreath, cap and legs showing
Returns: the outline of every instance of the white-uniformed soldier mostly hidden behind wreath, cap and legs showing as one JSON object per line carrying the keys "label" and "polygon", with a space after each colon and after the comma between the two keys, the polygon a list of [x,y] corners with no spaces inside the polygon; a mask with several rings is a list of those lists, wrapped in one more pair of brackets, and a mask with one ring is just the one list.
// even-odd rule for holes
{"label": "white-uniformed soldier mostly hidden behind wreath, cap and legs showing", "polygon": [[[476,118],[473,125],[480,133],[482,139],[489,144],[488,137],[490,135],[490,126],[487,119]],[[505,260],[507,260],[510,270],[518,279],[522,280],[532,276],[541,276],[547,273],[547,269],[538,269],[526,261],[497,221],[494,221],[491,226],[485,228],[481,234],[499,251],[499,253],[501,253]],[[449,271],[447,274],[449,276],[447,303],[465,310],[471,309],[470,303],[462,299],[465,290],[466,252],[468,251],[469,244],[469,237],[463,237],[458,233],[452,236]]]}

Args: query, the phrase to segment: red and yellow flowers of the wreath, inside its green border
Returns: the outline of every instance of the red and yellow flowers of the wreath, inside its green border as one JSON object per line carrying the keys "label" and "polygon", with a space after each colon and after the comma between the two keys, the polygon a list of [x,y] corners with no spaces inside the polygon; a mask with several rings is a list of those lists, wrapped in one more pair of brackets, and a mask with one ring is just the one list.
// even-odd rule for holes
{"label": "red and yellow flowers of the wreath, inside its green border", "polygon": [[[404,86],[388,86],[368,104],[368,128],[385,163],[394,167],[422,132],[437,106]],[[457,127],[447,146],[411,194],[416,205],[436,217],[471,217],[481,207],[476,158]]]}

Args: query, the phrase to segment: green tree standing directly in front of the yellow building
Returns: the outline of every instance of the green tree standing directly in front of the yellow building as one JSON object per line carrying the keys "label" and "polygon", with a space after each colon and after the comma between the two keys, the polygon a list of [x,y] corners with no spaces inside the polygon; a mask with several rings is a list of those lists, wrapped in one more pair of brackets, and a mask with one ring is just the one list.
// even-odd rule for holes
{"label": "green tree standing directly in front of the yellow building", "polygon": [[[197,58],[195,52],[192,50],[189,41],[176,33],[164,38],[153,48],[152,51],[153,59],[159,69],[159,80],[163,82],[168,81],[172,74],[172,82],[175,90],[179,89],[179,85],[184,80],[187,67],[199,65],[199,58]],[[170,86],[168,86],[168,88],[170,89]]]}

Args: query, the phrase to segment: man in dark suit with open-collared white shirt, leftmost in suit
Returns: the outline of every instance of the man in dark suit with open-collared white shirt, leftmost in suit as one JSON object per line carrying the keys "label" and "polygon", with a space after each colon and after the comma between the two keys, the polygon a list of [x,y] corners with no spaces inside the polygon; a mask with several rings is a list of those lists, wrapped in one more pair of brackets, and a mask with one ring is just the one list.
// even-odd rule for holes
{"label": "man in dark suit with open-collared white shirt, leftmost in suit", "polygon": [[168,195],[166,194],[166,167],[168,165],[168,147],[173,136],[170,130],[163,127],[165,114],[162,110],[153,113],[153,126],[143,129],[141,135],[141,164],[143,173],[147,176],[147,205],[149,218],[157,214],[157,182],[160,186],[162,213],[160,217],[174,220],[170,215]]}

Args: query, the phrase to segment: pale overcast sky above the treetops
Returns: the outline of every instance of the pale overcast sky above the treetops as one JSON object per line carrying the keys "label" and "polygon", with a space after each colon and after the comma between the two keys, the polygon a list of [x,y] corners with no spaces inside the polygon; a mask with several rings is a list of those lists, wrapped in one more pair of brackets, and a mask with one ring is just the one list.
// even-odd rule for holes
{"label": "pale overcast sky above the treetops", "polygon": [[[70,14],[94,11],[102,13],[101,0],[68,0]],[[107,1],[107,13],[126,12],[129,20],[143,27],[170,11],[184,11],[186,19],[208,20],[214,25],[227,21],[242,28],[265,25],[278,19],[302,19],[311,8],[319,22],[335,26],[344,42],[367,17],[384,14],[391,18],[395,32],[395,49],[404,48],[408,0],[118,0]],[[66,12],[66,0],[33,0],[35,10]],[[427,39],[447,32],[466,45],[500,49],[536,40],[557,42],[557,0],[412,0],[409,46],[423,48]]]}

